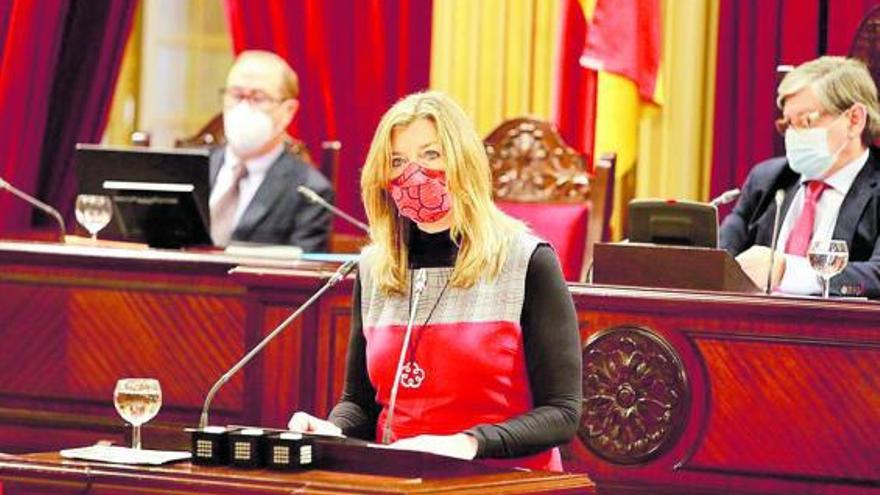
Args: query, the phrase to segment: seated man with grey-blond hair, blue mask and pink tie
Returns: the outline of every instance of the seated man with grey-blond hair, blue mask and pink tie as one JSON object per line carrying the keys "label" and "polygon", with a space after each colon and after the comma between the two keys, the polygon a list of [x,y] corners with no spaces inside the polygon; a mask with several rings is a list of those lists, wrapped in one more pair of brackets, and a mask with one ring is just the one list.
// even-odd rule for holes
{"label": "seated man with grey-blond hair, blue mask and pink tie", "polygon": [[820,279],[807,252],[817,240],[845,241],[849,263],[831,279],[831,293],[880,297],[880,137],[877,88],[865,65],[821,57],[788,73],[777,90],[785,157],[756,165],[733,212],[721,225],[721,247],[759,286],[771,267],[776,214],[780,210],[771,288],[819,294]]}

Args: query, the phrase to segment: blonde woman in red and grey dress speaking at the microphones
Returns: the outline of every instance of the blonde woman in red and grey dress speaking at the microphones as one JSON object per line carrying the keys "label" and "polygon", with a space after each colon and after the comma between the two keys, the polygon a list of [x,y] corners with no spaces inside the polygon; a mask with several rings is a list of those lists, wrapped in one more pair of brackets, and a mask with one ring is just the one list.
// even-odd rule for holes
{"label": "blonde woman in red and grey dress speaking at the microphones", "polygon": [[462,109],[416,93],[382,118],[361,177],[372,244],[352,304],[341,400],[290,428],[561,470],[581,354],[553,249],[492,202]]}

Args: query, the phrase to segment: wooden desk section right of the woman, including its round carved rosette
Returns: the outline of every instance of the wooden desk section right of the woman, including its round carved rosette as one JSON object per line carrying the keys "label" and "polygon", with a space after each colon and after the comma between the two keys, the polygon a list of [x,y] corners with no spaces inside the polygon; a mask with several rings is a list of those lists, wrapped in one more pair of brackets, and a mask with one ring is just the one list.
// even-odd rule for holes
{"label": "wooden desk section right of the woman, including its round carved rosette", "polygon": [[585,412],[567,469],[600,484],[880,491],[880,304],[571,291]]}

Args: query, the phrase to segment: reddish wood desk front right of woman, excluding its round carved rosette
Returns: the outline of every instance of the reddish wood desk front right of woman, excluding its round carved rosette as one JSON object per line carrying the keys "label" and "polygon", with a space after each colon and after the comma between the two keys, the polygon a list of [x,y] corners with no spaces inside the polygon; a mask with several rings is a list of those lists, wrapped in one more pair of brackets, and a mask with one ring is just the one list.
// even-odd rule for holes
{"label": "reddish wood desk front right of woman, excluding its round carved rosette", "polygon": [[631,326],[670,343],[691,405],[680,438],[660,457],[609,462],[576,441],[567,467],[600,486],[880,492],[877,303],[600,286],[572,292],[584,342]]}

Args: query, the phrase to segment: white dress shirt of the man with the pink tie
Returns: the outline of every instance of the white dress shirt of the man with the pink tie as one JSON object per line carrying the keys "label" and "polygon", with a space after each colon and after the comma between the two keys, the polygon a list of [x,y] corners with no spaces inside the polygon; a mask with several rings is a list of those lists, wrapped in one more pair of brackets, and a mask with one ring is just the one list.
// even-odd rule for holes
{"label": "white dress shirt of the man with the pink tie", "polygon": [[[846,164],[843,168],[827,177],[825,183],[829,187],[822,192],[816,203],[816,218],[813,224],[813,240],[831,239],[834,235],[834,226],[837,225],[837,215],[843,198],[849,192],[856,176],[862,171],[868,162],[869,150],[865,150],[858,158]],[[785,244],[794,228],[794,223],[804,208],[805,182],[801,178],[797,193],[791,201],[791,206],[785,214],[782,228],[779,230],[779,240],[776,243],[778,253],[785,253]],[[822,284],[819,276],[810,267],[810,262],[803,256],[785,254],[785,273],[779,284],[779,291],[787,294],[821,294]]]}

